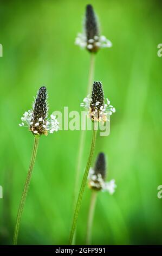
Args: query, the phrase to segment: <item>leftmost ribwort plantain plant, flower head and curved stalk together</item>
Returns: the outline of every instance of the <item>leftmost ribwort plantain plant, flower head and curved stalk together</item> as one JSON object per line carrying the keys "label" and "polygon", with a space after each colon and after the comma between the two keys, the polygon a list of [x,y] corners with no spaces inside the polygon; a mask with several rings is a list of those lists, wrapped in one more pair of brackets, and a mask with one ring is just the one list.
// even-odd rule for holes
{"label": "leftmost ribwort plantain plant, flower head and curved stalk together", "polygon": [[16,219],[16,226],[14,231],[14,245],[17,245],[18,232],[20,229],[22,212],[25,204],[25,199],[27,198],[27,193],[29,190],[31,174],[33,172],[33,167],[36,159],[38,142],[41,135],[48,135],[49,133],[53,133],[54,131],[58,131],[59,123],[57,122],[56,117],[51,114],[48,119],[48,102],[47,102],[48,94],[45,86],[41,87],[38,90],[36,99],[33,102],[33,109],[26,111],[21,118],[22,123],[19,124],[21,127],[28,127],[29,131],[31,131],[34,135],[34,145],[33,152],[31,154],[31,161],[28,169],[27,179],[25,181],[24,190],[22,193],[21,202],[18,208],[18,214]]}

